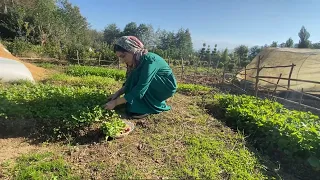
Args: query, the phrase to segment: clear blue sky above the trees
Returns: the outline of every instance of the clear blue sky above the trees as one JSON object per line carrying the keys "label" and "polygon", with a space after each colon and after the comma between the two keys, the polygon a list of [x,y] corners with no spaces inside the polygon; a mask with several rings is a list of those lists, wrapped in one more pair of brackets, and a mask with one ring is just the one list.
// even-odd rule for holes
{"label": "clear blue sky above the trees", "polygon": [[219,49],[285,42],[298,43],[302,25],[320,41],[320,0],[70,0],[92,28],[129,22],[177,31],[189,28],[194,48],[203,42]]}

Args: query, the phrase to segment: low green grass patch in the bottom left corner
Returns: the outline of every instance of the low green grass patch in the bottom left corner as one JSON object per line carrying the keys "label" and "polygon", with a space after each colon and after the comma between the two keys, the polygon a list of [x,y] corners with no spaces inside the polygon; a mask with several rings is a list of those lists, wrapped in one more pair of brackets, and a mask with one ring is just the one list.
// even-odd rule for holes
{"label": "low green grass patch in the bottom left corner", "polygon": [[13,179],[80,179],[61,156],[53,153],[27,154],[19,157],[11,169]]}

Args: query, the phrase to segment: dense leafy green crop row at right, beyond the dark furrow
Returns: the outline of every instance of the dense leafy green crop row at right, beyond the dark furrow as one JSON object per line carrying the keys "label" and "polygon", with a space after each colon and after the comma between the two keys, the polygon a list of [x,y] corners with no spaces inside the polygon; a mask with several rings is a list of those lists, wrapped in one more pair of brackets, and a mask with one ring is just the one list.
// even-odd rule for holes
{"label": "dense leafy green crop row at right, beyond the dark furrow", "polygon": [[289,157],[309,159],[310,165],[320,168],[318,116],[288,110],[277,102],[246,95],[217,94],[214,99],[225,112],[228,123],[245,130],[261,148],[281,151]]}

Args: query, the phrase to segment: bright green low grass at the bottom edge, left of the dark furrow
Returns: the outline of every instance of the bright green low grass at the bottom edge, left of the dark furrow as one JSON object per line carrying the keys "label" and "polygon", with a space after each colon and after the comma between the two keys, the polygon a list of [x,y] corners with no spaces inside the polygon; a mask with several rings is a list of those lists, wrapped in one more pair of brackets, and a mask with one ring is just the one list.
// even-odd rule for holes
{"label": "bright green low grass at the bottom edge, left of the dark furrow", "polygon": [[182,179],[266,179],[257,159],[241,143],[230,149],[223,141],[203,135],[186,138],[185,143]]}

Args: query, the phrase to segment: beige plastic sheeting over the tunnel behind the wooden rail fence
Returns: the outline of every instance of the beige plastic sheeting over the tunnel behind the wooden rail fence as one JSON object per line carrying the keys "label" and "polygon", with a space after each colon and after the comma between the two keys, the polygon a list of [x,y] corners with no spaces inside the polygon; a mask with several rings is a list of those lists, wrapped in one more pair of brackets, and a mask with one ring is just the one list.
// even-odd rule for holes
{"label": "beige plastic sheeting over the tunnel behind the wooden rail fence", "polygon": [[[320,82],[320,50],[319,49],[298,49],[298,48],[265,48],[260,52],[250,64],[247,65],[247,69],[256,68],[258,64],[259,55],[262,57],[260,60],[260,67],[263,66],[287,66],[295,64],[293,68],[291,78],[316,81]],[[273,76],[279,77],[282,73],[282,78],[289,78],[291,67],[280,67],[280,68],[265,68],[259,73],[259,76]],[[238,74],[239,79],[244,79],[245,71],[243,70],[241,74]],[[255,77],[257,70],[247,70],[247,80],[255,82]],[[264,80],[277,83],[277,79],[264,78]],[[267,87],[271,90],[275,88],[275,85],[259,81],[259,85]],[[288,80],[280,80],[279,85],[288,86]],[[290,88],[296,91],[301,91],[303,88],[304,92],[319,94],[320,84],[301,82],[301,81],[291,81]],[[284,90],[284,88],[278,87],[278,90]]]}

